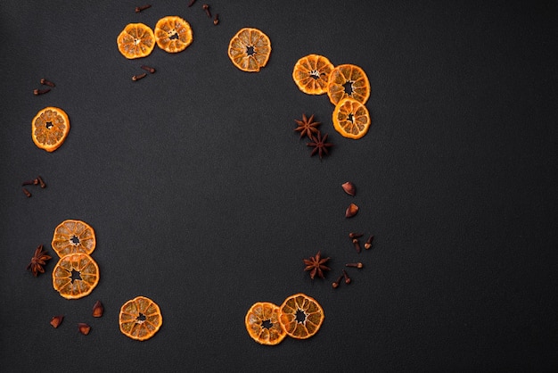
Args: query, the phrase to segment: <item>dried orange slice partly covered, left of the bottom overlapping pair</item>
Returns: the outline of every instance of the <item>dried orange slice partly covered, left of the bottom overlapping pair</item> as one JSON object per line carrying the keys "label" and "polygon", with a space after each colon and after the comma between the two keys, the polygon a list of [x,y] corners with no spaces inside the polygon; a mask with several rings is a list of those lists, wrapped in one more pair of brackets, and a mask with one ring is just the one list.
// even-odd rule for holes
{"label": "dried orange slice partly covered, left of the bottom overlapping pair", "polygon": [[287,336],[279,321],[279,307],[274,303],[254,303],[244,318],[248,334],[258,344],[274,345]]}

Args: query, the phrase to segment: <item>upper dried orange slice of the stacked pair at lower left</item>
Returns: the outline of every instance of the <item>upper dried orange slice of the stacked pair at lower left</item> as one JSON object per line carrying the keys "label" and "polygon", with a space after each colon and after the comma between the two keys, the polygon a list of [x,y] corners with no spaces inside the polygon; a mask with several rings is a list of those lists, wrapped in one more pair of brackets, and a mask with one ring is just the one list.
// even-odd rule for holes
{"label": "upper dried orange slice of the stacked pair at lower left", "polygon": [[96,239],[94,229],[81,220],[64,220],[54,229],[53,250],[58,256],[69,253],[93,253]]}

